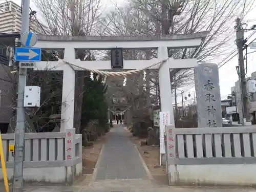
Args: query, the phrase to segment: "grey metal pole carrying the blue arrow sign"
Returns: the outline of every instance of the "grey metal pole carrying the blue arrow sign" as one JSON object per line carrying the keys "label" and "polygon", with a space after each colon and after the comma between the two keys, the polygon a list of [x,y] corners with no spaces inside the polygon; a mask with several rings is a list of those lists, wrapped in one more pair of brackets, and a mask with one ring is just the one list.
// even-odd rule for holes
{"label": "grey metal pole carrying the blue arrow sign", "polygon": [[[23,0],[22,3],[22,31],[29,31],[29,5],[30,0]],[[17,100],[17,123],[15,129],[15,153],[13,170],[13,191],[20,191],[23,186],[23,157],[25,143],[25,109],[24,89],[26,86],[27,69],[19,68],[18,78],[18,100]]]}

